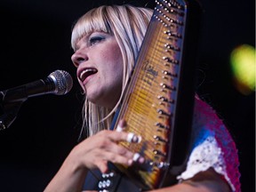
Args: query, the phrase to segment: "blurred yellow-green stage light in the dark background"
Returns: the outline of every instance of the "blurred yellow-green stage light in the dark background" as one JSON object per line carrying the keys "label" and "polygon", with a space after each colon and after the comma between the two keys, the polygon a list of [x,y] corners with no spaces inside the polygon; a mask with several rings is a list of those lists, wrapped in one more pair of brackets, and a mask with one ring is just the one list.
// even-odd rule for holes
{"label": "blurred yellow-green stage light in the dark background", "polygon": [[238,46],[231,52],[230,62],[236,89],[246,95],[255,91],[255,48]]}

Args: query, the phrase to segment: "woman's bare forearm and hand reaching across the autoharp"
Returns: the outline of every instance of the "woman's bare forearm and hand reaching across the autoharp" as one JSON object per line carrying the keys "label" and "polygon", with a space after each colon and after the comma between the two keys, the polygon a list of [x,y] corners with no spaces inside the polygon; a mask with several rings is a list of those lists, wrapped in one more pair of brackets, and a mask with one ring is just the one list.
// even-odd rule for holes
{"label": "woman's bare forearm and hand reaching across the autoharp", "polygon": [[108,162],[132,164],[132,152],[117,145],[127,136],[127,132],[101,131],[82,141],[69,153],[44,192],[81,191],[89,169],[108,172]]}

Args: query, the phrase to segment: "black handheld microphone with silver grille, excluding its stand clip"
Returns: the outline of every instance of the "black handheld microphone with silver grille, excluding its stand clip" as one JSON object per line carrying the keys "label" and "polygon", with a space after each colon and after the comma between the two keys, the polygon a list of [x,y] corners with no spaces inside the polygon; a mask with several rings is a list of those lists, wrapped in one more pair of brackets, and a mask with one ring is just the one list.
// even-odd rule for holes
{"label": "black handheld microphone with silver grille, excluding its stand clip", "polygon": [[56,70],[45,79],[40,79],[0,92],[0,101],[2,100],[4,103],[25,101],[30,97],[49,93],[63,95],[68,93],[72,86],[73,79],[68,72]]}

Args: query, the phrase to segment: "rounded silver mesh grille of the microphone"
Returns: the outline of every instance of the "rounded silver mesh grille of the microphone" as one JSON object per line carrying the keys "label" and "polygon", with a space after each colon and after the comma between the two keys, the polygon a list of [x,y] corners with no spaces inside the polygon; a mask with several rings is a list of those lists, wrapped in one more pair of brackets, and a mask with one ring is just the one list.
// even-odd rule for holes
{"label": "rounded silver mesh grille of the microphone", "polygon": [[48,77],[52,78],[55,84],[54,94],[66,94],[73,86],[72,76],[70,76],[67,71],[55,70]]}

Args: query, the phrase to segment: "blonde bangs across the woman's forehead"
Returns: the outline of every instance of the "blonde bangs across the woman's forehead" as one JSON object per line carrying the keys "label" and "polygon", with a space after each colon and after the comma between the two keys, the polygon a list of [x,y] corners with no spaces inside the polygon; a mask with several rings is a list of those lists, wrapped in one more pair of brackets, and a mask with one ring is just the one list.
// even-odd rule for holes
{"label": "blonde bangs across the woman's forehead", "polygon": [[71,35],[71,46],[73,50],[76,50],[76,43],[83,38],[83,36],[88,36],[94,31],[113,34],[109,28],[108,20],[106,20],[105,17],[106,10],[104,7],[101,7],[101,9],[92,9],[86,12],[83,17],[77,20]]}

